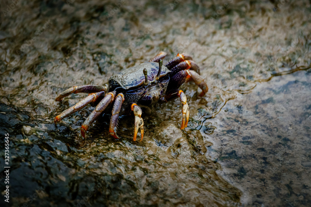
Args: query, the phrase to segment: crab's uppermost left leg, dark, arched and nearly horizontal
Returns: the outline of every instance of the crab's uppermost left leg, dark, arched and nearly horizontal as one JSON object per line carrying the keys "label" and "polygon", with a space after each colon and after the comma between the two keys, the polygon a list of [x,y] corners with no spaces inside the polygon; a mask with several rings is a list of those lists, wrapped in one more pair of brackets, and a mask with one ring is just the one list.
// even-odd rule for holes
{"label": "crab's uppermost left leg, dark, arched and nearly horizontal", "polygon": [[69,96],[72,93],[94,93],[100,91],[107,91],[107,85],[83,85],[83,86],[73,86],[72,88],[68,88],[66,91],[59,94],[59,96],[55,99],[55,101],[62,101],[62,99],[66,96]]}

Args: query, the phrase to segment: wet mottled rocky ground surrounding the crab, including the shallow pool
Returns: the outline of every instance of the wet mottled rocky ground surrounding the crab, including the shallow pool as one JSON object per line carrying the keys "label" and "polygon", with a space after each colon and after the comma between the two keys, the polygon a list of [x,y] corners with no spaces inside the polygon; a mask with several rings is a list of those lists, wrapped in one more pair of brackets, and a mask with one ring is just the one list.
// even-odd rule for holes
{"label": "wet mottled rocky ground surrounding the crab, including the shallow pool", "polygon": [[[18,1],[3,12],[11,4],[0,6],[9,206],[310,204],[309,2]],[[104,84],[159,51],[164,62],[191,54],[209,86],[205,97],[194,83],[181,87],[186,129],[178,100],[142,116],[142,142],[132,140],[133,116],[119,120],[121,139],[106,115],[83,139],[93,107],[54,124],[86,96],[54,101],[60,92]]]}

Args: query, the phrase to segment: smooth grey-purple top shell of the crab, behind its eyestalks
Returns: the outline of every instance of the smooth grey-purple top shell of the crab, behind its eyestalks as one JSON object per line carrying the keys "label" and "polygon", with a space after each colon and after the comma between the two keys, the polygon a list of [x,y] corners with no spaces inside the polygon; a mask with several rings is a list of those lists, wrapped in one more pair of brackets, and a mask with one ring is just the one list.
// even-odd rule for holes
{"label": "smooth grey-purple top shell of the crab, behind its eyestalks", "polygon": [[[156,62],[146,62],[140,65],[136,65],[134,67],[128,68],[120,73],[114,74],[109,78],[109,85],[118,83],[119,87],[124,89],[129,89],[132,87],[140,86],[145,81],[145,76],[143,74],[143,70],[147,69],[147,76],[149,81],[154,80],[154,76],[157,75],[159,70],[159,63]],[[162,65],[160,77],[168,74],[170,70]],[[118,85],[110,86],[110,88],[117,88]]]}

